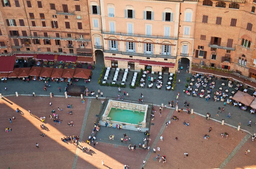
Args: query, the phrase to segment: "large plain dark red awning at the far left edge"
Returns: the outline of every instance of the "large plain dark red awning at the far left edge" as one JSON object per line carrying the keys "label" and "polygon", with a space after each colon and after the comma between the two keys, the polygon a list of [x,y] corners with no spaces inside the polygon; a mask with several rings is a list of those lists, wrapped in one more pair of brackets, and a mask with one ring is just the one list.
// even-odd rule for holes
{"label": "large plain dark red awning at the far left edge", "polygon": [[15,56],[0,56],[0,72],[12,72],[15,64]]}

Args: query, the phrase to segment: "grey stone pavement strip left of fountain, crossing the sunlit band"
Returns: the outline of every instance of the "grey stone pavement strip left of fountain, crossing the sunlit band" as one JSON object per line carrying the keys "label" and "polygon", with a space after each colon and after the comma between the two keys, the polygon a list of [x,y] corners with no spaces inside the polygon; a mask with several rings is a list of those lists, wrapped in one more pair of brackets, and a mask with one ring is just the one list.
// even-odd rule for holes
{"label": "grey stone pavement strip left of fountain, crossing the sunlit band", "polygon": [[[84,129],[85,129],[85,126],[86,126],[87,117],[88,117],[89,110],[90,110],[90,104],[91,104],[91,99],[87,99],[86,109],[85,109],[85,113],[84,113],[84,120],[83,120],[83,124],[82,124],[82,127],[81,127],[81,132],[80,132],[79,138],[83,138],[83,136],[84,136]],[[76,168],[76,163],[77,163],[77,159],[78,159],[79,150],[80,150],[79,148],[76,149],[76,154],[75,154],[72,169]]]}

